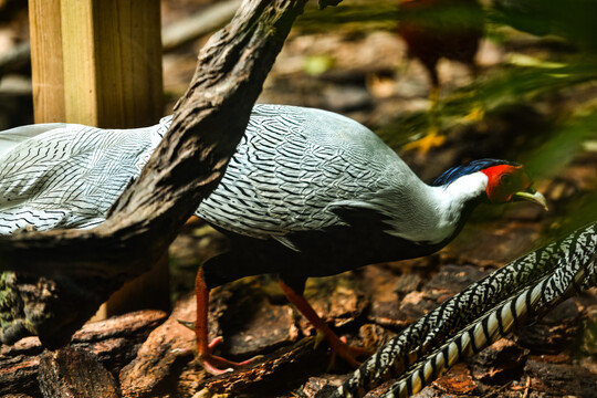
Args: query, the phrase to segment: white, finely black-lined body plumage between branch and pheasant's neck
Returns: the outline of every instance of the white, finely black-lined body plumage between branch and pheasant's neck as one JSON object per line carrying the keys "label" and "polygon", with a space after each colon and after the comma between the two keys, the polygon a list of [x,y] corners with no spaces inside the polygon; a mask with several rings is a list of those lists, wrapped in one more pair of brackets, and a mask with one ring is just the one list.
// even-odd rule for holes
{"label": "white, finely black-lined body plumage between branch and pheasant's neck", "polygon": [[[346,224],[335,203],[367,198],[410,169],[363,125],[308,108],[258,105],[216,190],[197,214],[224,230],[274,238]],[[402,170],[401,172],[406,172]]]}

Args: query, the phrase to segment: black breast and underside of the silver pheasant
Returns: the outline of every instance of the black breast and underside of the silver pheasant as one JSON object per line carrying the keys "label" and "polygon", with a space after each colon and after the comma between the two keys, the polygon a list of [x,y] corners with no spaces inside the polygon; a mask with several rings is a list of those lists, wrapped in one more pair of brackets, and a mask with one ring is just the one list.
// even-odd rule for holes
{"label": "black breast and underside of the silver pheasant", "polygon": [[233,280],[274,273],[300,285],[310,276],[327,276],[363,265],[428,255],[449,240],[416,243],[386,232],[388,224],[377,213],[342,214],[345,226],[292,233],[285,238],[293,250],[275,239],[254,239],[222,230],[231,240],[228,253],[205,265],[210,287]]}

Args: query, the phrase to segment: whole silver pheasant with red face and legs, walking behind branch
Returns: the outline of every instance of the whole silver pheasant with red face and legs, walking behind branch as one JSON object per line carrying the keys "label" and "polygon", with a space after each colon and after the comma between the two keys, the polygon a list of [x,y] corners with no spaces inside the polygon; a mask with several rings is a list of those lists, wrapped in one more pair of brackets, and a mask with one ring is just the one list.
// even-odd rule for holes
{"label": "whole silver pheasant with red face and legs, walking behind branch", "polygon": [[[171,118],[138,129],[46,124],[0,133],[0,233],[91,228],[147,163]],[[341,356],[348,349],[302,296],[308,276],[439,250],[480,202],[545,199],[523,167],[481,159],[433,185],[365,126],[321,109],[255,105],[218,187],[196,211],[231,238],[197,276],[198,350],[212,373],[238,364],[211,355],[209,290],[276,273],[284,293]]]}

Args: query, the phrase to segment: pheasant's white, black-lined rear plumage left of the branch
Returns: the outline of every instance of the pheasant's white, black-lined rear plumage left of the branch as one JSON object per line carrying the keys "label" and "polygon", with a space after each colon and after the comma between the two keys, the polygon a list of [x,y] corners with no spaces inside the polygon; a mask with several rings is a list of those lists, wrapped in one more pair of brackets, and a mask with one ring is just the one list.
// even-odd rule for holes
{"label": "pheasant's white, black-lined rear plumage left of the branch", "polygon": [[155,129],[48,124],[0,133],[0,233],[102,222],[159,142]]}

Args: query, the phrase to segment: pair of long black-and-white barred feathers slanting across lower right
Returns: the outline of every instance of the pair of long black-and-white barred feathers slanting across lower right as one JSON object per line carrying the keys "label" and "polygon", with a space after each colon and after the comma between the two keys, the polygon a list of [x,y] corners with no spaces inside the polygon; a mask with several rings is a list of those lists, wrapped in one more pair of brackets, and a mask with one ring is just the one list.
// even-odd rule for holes
{"label": "pair of long black-and-white barred feathers slanting across lower right", "polygon": [[536,250],[473,283],[407,327],[333,395],[363,397],[397,378],[384,397],[408,397],[462,357],[525,320],[597,285],[597,223]]}

